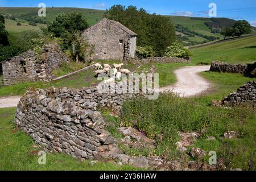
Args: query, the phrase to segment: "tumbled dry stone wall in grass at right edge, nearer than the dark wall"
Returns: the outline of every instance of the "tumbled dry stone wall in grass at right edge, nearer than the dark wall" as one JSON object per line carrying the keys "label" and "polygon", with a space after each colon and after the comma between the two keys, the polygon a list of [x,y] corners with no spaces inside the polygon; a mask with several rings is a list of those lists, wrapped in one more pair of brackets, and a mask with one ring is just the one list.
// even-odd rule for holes
{"label": "tumbled dry stone wall in grass at right edge, nearer than the dark wall", "polygon": [[249,81],[222,100],[222,105],[256,104],[256,81]]}

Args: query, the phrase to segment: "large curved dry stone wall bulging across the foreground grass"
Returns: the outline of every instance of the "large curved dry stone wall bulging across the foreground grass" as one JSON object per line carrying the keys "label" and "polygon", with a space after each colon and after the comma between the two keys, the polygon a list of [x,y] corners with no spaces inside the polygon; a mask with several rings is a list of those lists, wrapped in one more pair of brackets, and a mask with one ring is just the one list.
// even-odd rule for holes
{"label": "large curved dry stone wall bulging across the foreground grass", "polygon": [[49,151],[64,152],[78,159],[98,159],[117,154],[118,147],[104,129],[97,106],[120,106],[124,100],[139,95],[102,93],[96,86],[31,88],[19,101],[15,122]]}

